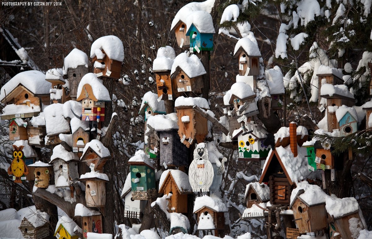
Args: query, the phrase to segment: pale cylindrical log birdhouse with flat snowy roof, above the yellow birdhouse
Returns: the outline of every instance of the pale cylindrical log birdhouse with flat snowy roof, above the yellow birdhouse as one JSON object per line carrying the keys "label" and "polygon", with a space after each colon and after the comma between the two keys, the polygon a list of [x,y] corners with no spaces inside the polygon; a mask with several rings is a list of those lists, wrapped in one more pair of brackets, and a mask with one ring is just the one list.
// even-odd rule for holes
{"label": "pale cylindrical log birdhouse with flat snowy roof, above the yellow birdhouse", "polygon": [[104,173],[91,171],[80,176],[85,181],[85,201],[87,207],[103,207],[106,203],[106,183],[109,177]]}

